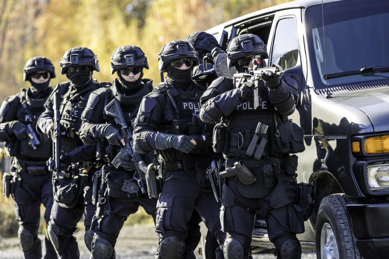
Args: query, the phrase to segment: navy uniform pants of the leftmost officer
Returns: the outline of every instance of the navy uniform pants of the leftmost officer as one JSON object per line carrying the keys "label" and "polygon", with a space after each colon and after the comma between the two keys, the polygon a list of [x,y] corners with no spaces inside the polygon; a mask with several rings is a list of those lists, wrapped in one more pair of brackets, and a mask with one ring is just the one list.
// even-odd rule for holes
{"label": "navy uniform pants of the leftmost officer", "polygon": [[[24,253],[26,259],[49,259],[55,258],[56,252],[50,240],[46,237],[43,241],[43,248],[41,241],[38,238],[38,228],[40,221],[40,204],[46,207],[44,213],[44,219],[46,224],[50,220],[50,211],[53,206],[53,186],[51,185],[52,174],[47,172],[44,175],[32,176],[26,171],[20,171],[20,186],[15,188],[21,188],[22,190],[15,189],[20,193],[24,190],[28,196],[20,197],[19,200],[14,201],[16,219],[19,221],[19,225],[28,229],[34,237],[37,239],[37,245],[35,250],[30,253]],[[24,196],[24,195],[23,195]]]}

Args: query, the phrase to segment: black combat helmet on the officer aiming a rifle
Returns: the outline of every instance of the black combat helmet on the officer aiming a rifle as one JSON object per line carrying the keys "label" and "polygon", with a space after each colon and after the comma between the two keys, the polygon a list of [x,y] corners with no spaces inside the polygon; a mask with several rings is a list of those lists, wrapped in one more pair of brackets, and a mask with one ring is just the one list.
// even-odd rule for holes
{"label": "black combat helmet on the officer aiming a rifle", "polygon": [[227,64],[231,68],[242,57],[261,54],[262,59],[268,59],[266,44],[254,34],[242,34],[233,38],[227,47]]}

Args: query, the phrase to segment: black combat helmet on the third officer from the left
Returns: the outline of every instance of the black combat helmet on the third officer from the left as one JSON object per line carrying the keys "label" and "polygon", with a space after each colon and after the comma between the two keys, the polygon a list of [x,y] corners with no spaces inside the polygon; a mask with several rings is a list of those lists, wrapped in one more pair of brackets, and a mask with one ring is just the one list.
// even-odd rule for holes
{"label": "black combat helmet on the third officer from the left", "polygon": [[111,57],[111,74],[126,68],[146,68],[147,57],[144,52],[135,45],[118,47]]}

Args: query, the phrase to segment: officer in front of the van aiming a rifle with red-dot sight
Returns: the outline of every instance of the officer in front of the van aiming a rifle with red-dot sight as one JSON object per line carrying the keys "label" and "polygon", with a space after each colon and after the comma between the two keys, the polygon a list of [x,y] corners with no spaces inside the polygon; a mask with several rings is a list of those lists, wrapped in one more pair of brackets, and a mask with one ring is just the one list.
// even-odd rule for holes
{"label": "officer in front of the van aiming a rifle with red-dot sight", "polygon": [[[266,45],[256,35],[240,35],[228,44],[228,66],[235,66],[238,72],[252,66],[252,59],[258,59],[263,67],[267,58]],[[304,231],[304,225],[302,209],[295,204],[297,156],[279,148],[280,141],[290,137],[290,131],[282,130],[281,125],[287,125],[287,116],[295,109],[296,82],[289,76],[262,78],[265,87],[259,91],[261,105],[257,109],[252,85],[237,82],[236,87],[231,78],[217,78],[201,97],[201,120],[213,123],[222,118],[224,125],[218,131],[224,135],[216,136],[216,146],[225,158],[225,172],[230,173],[223,185],[220,215],[227,233],[224,256],[251,258],[248,253],[254,219],[260,210],[277,258],[301,258],[296,234]],[[263,143],[267,141],[263,152],[259,148],[262,139]],[[254,151],[258,153],[249,150],[255,140],[259,145]]]}

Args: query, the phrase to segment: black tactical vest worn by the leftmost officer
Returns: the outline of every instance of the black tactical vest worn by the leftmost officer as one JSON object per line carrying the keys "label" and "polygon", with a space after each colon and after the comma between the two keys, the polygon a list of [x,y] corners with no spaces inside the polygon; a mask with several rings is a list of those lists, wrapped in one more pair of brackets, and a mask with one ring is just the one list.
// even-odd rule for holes
{"label": "black tactical vest worn by the leftmost officer", "polygon": [[35,134],[39,138],[40,144],[36,149],[33,149],[32,146],[28,144],[27,139],[18,140],[18,149],[19,154],[18,158],[37,158],[39,160],[47,160],[51,156],[51,141],[44,134],[38,134],[35,130],[37,120],[40,114],[44,111],[44,103],[49,97],[48,95],[42,99],[33,99],[28,96],[28,91],[26,89],[21,89],[20,93],[17,95],[20,99],[20,105],[16,113],[17,120],[25,125],[30,124],[32,129],[35,131]]}

